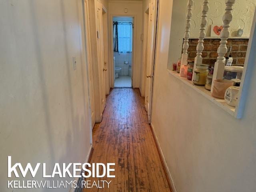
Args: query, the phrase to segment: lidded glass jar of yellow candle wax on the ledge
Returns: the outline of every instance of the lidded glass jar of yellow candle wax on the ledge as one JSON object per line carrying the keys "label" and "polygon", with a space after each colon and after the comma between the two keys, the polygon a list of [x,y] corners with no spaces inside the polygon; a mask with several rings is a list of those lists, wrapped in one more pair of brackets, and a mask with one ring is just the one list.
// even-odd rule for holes
{"label": "lidded glass jar of yellow candle wax on the ledge", "polygon": [[196,69],[193,74],[193,83],[195,85],[204,86],[206,83],[206,76],[209,73],[209,65],[206,64],[196,64]]}

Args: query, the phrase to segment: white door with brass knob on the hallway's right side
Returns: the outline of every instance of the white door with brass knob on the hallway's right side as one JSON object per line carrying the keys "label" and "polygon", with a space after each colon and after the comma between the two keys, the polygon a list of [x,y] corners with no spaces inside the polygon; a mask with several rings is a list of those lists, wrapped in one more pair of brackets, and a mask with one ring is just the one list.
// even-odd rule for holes
{"label": "white door with brass knob on the hallway's right side", "polygon": [[152,90],[153,90],[153,77],[154,77],[155,49],[156,49],[157,10],[158,10],[158,0],[152,0],[149,5],[146,90],[145,90],[145,108],[148,112],[149,123],[151,122]]}

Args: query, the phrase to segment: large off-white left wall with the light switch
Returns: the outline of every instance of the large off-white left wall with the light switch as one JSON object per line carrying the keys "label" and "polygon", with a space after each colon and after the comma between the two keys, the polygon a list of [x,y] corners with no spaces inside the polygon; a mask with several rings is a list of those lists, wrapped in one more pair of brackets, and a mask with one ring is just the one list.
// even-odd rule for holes
{"label": "large off-white left wall with the light switch", "polygon": [[[82,1],[0,1],[0,13],[0,191],[49,191],[7,189],[7,156],[23,165],[45,162],[47,171],[55,162],[86,161],[91,133]],[[34,179],[44,180],[41,175]]]}

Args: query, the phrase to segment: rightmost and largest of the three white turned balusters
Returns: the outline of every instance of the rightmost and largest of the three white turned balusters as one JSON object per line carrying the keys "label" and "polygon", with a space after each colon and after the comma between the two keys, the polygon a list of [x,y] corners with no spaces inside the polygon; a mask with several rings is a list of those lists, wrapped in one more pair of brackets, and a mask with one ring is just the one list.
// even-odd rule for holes
{"label": "rightmost and largest of the three white turned balusters", "polygon": [[214,80],[222,79],[224,75],[224,68],[225,68],[225,54],[227,52],[227,39],[229,37],[229,30],[230,22],[232,21],[232,6],[234,5],[235,0],[226,0],[226,9],[225,14],[222,17],[223,21],[223,30],[220,32],[220,46],[218,47],[218,58],[214,64],[214,72],[212,76],[212,87],[211,92],[214,86]]}

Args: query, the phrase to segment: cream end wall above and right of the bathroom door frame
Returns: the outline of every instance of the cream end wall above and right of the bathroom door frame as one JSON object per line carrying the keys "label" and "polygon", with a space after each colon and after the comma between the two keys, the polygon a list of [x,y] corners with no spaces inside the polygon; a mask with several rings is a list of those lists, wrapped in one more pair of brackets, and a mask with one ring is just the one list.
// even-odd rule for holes
{"label": "cream end wall above and right of the bathroom door frame", "polygon": [[[133,55],[133,82],[132,86],[138,88],[140,86],[140,62],[142,41],[142,2],[141,1],[109,1],[109,15],[111,16],[133,16],[134,17],[134,47]],[[128,9],[128,13],[124,13],[124,9]],[[111,19],[111,18],[110,18]],[[111,26],[110,26],[111,27]],[[112,55],[113,56],[113,55]]]}

